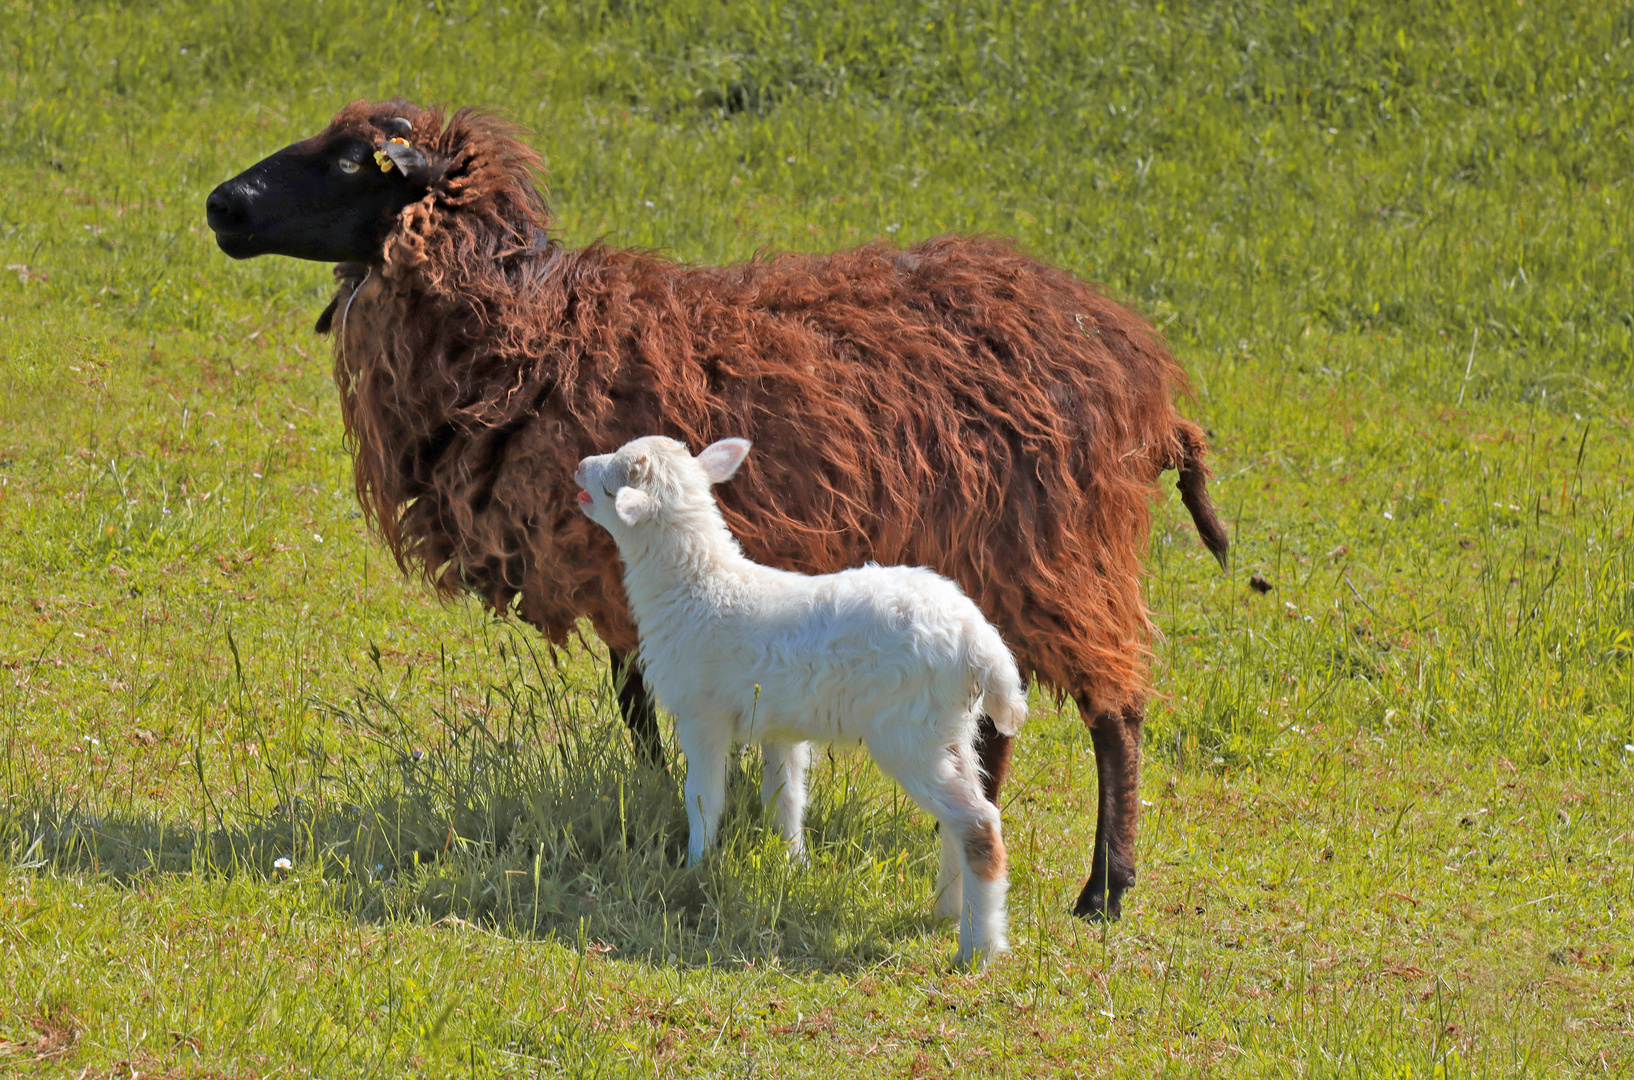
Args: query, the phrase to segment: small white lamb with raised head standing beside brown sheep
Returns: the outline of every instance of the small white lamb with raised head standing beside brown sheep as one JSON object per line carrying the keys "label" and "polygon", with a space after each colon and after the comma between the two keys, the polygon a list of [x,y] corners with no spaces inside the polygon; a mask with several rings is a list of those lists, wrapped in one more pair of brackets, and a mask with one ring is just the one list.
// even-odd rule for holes
{"label": "small white lamb with raised head standing beside brown sheep", "polygon": [[959,966],[985,966],[1005,949],[1008,876],[971,742],[980,711],[1007,735],[1021,729],[1015,658],[959,587],[930,570],[806,577],[750,562],[709,492],[747,454],[747,440],[693,457],[652,436],[585,457],[574,474],[580,508],[618,541],[642,675],[675,714],[688,858],[714,841],[734,747],[760,743],[761,799],[799,853],[807,740],[866,743],[941,823],[936,913],[959,918]]}

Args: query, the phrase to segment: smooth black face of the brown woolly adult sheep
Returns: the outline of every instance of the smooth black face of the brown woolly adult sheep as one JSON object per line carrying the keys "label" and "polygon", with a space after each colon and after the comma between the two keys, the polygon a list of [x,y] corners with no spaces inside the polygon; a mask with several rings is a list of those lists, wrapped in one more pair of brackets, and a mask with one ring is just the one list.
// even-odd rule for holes
{"label": "smooth black face of the brown woolly adult sheep", "polygon": [[216,243],[234,258],[368,263],[379,258],[397,212],[422,194],[423,183],[404,168],[381,168],[376,144],[325,132],[222,183],[206,199],[204,216]]}

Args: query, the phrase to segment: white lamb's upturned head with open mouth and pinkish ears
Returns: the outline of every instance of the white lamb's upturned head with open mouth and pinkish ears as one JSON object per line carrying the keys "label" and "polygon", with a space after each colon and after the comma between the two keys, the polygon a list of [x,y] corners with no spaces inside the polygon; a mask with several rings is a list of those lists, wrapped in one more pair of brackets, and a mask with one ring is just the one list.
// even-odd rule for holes
{"label": "white lamb's upturned head with open mouth and pinkish ears", "polygon": [[709,489],[729,480],[747,456],[748,440],[711,443],[696,457],[662,435],[632,440],[578,462],[578,508],[621,544],[663,524],[719,520]]}

